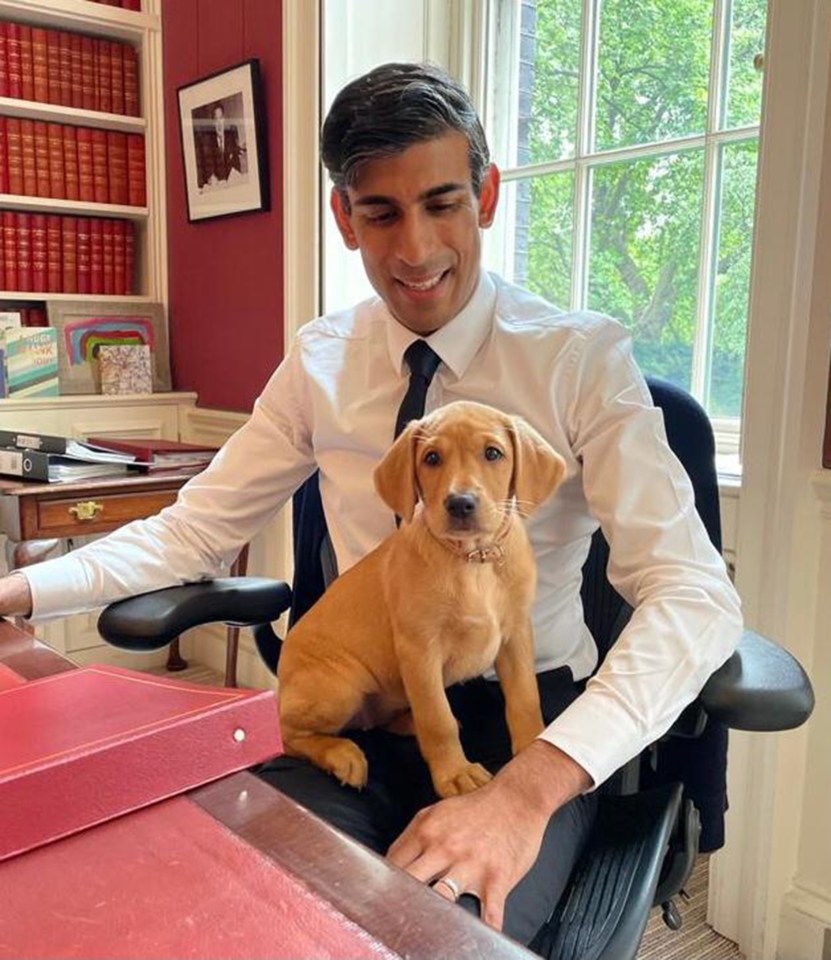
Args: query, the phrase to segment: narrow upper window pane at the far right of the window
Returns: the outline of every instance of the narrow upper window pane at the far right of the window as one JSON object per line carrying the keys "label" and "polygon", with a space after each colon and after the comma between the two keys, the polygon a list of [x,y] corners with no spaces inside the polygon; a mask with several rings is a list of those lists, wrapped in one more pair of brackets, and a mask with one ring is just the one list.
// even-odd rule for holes
{"label": "narrow upper window pane at the far right of the window", "polygon": [[767,0],[733,0],[727,81],[727,127],[757,124],[762,112],[762,71],[754,64],[765,51]]}

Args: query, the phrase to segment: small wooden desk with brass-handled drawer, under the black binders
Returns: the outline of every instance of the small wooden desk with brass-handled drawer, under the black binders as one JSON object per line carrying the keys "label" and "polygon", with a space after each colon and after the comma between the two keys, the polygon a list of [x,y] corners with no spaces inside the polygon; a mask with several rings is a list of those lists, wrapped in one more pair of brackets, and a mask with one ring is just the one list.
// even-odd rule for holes
{"label": "small wooden desk with brass-handled drawer, under the black binders", "polygon": [[[131,520],[151,517],[174,503],[179,490],[199,468],[129,472],[89,477],[70,483],[38,483],[0,478],[0,530],[12,544],[12,566],[25,567],[45,559],[60,539],[110,533]],[[248,548],[231,568],[243,576]],[[225,681],[236,686],[239,629],[228,628]],[[168,670],[184,670],[179,641],[170,645]]]}

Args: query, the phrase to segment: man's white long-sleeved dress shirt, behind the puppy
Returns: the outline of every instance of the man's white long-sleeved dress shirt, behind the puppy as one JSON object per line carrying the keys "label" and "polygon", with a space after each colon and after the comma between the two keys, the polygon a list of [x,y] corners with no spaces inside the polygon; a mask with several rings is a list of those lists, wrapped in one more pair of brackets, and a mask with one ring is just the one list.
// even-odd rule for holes
{"label": "man's white long-sleeved dress shirt, behind the puppy", "polygon": [[[250,420],[176,504],[22,571],[33,616],[217,575],[316,466],[338,567],[349,568],[395,529],[372,472],[393,439],[414,339],[378,298],[306,324]],[[543,734],[599,784],[661,736],[733,651],[738,597],[623,327],[483,273],[429,342],[442,364],[428,412],[465,399],[519,414],[568,465],[527,522],[539,566],[537,670],[568,665],[582,679],[596,666],[580,584],[598,523],[610,578],[636,608],[586,691]]]}

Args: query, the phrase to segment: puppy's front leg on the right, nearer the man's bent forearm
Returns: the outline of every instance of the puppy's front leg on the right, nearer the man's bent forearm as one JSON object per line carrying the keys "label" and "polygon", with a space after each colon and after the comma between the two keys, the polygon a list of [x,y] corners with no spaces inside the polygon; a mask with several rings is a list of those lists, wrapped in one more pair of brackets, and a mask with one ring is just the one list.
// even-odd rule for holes
{"label": "puppy's front leg on the right, nearer the man's bent forearm", "polygon": [[540,692],[534,673],[534,628],[525,617],[499,649],[494,664],[505,694],[505,720],[511,749],[517,754],[538,737],[545,726]]}

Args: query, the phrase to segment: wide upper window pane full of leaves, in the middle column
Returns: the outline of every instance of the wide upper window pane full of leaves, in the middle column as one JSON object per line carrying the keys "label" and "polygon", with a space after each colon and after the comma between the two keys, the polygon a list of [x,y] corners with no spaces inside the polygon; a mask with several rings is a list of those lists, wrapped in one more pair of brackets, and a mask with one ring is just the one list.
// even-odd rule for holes
{"label": "wide upper window pane full of leaves, in the middle column", "polygon": [[703,133],[712,0],[602,0],[598,149]]}

